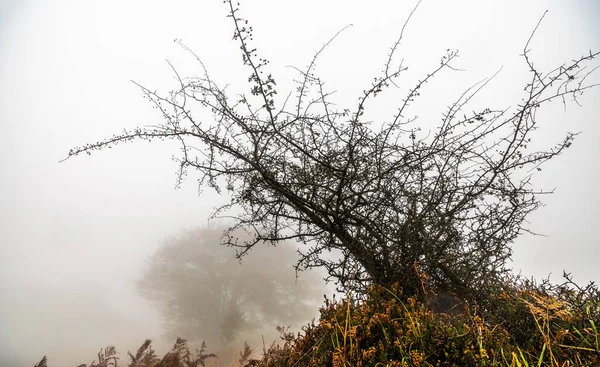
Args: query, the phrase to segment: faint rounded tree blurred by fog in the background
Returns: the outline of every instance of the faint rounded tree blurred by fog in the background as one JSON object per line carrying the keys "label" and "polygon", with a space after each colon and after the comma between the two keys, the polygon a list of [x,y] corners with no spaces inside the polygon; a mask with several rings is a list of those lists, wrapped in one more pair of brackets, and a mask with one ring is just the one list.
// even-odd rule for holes
{"label": "faint rounded tree blurred by fog in the background", "polygon": [[[314,272],[295,277],[293,246],[257,246],[240,265],[220,246],[223,229],[198,229],[167,240],[137,282],[153,301],[170,338],[207,340],[213,348],[239,332],[304,324],[324,287]],[[242,234],[243,236],[243,234]]]}

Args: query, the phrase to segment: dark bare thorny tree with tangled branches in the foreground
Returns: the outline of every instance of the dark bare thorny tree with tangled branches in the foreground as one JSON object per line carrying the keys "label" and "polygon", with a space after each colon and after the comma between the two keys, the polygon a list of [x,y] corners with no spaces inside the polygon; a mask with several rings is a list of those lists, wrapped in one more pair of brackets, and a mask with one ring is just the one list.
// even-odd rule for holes
{"label": "dark bare thorny tree with tangled branches in the foreground", "polygon": [[[523,50],[531,78],[520,104],[468,112],[488,78],[451,103],[439,127],[425,134],[408,109],[426,83],[454,70],[458,52],[449,50],[376,128],[364,113],[406,70],[396,54],[410,16],[383,72],[356,106],[338,108],[315,74],[315,60],[339,33],[298,69],[296,94],[276,103],[275,79],[251,45],[252,28],[234,3],[225,3],[250,71],[250,94],[228,95],[182,45],[197,58],[200,76],[181,77],[173,68],[179,85],[167,96],[140,86],[162,124],[76,147],[68,157],[132,140],[175,139],[181,144],[178,182],[193,169],[201,186],[229,192],[230,203],[214,215],[228,212],[236,220],[230,231],[253,234],[242,242],[226,232],[223,243],[241,257],[262,241],[297,240],[306,245],[298,267],[324,267],[342,289],[362,292],[371,283],[400,281],[405,294],[417,294],[426,275],[431,286],[467,297],[502,278],[511,243],[527,231],[524,220],[546,193],[530,184],[532,174],[575,135],[532,149],[536,112],[556,100],[577,103],[596,86],[588,77],[598,53],[538,70],[529,52],[538,23]],[[197,118],[196,108],[213,121]],[[336,256],[324,256],[330,251]]]}

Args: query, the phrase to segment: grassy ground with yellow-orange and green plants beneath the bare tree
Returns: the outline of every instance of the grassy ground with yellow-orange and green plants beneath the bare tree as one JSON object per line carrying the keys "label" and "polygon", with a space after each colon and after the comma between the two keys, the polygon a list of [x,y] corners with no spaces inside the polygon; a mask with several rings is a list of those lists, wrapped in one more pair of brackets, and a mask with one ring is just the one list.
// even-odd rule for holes
{"label": "grassy ground with yellow-orange and green plants beneath the bare tree", "polygon": [[[146,340],[128,353],[126,365],[600,366],[600,293],[593,283],[579,287],[566,279],[561,285],[513,279],[482,298],[486,302],[454,298],[444,310],[439,292],[406,297],[398,284],[374,286],[361,299],[326,300],[318,321],[296,335],[279,328],[280,343],[260,353],[246,345],[235,363],[208,353],[204,344],[191,352],[179,338],[163,358]],[[123,364],[107,347],[90,366]],[[46,357],[36,365],[45,366]]]}

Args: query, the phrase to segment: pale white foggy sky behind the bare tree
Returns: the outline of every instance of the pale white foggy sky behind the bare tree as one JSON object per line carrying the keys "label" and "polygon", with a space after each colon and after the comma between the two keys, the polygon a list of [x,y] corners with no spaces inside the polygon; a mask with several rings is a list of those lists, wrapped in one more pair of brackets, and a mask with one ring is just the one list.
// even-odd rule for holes
{"label": "pale white foggy sky behind the bare tree", "polygon": [[[242,14],[282,92],[295,76],[286,65],[305,67],[352,23],[318,69],[342,104],[381,70],[413,5],[261,0],[243,2]],[[158,337],[156,314],[133,294],[132,280],[163,238],[205,225],[220,199],[198,196],[193,180],[174,190],[176,146],[169,144],[58,161],[74,145],[161,121],[130,79],[167,92],[174,84],[165,59],[192,73],[175,38],[221,84],[246,88],[226,10],[218,0],[0,0],[0,365],[10,358],[32,365],[44,354],[53,366],[89,363],[101,346],[126,352]],[[467,72],[428,84],[413,112],[439,118],[464,87],[500,67],[485,103],[518,101],[527,78],[519,54],[545,10],[532,43],[540,68],[600,49],[595,0],[425,0],[400,50],[407,80],[430,71],[448,48],[460,50],[457,65]],[[582,134],[536,179],[556,193],[530,218],[547,237],[515,244],[513,265],[524,275],[567,269],[580,282],[600,281],[600,90],[581,101],[583,108],[557,105],[539,115],[542,142]]]}

